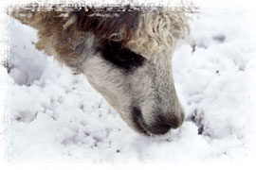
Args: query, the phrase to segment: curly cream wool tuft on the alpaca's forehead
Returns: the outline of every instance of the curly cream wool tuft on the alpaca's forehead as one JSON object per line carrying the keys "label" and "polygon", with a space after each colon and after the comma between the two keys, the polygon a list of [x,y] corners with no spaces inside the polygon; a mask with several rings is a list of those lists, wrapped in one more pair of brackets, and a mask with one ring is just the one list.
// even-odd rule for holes
{"label": "curly cream wool tuft on the alpaca's forehead", "polygon": [[154,57],[164,50],[173,53],[177,39],[189,31],[184,8],[160,8],[140,15],[137,30],[128,47],[146,57]]}

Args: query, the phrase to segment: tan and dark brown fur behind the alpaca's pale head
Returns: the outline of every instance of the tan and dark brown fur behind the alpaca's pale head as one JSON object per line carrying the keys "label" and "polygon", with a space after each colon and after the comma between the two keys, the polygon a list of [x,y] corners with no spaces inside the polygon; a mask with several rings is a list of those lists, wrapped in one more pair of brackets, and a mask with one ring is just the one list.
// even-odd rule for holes
{"label": "tan and dark brown fur behind the alpaca's pale head", "polygon": [[79,53],[84,48],[86,33],[90,31],[95,35],[95,44],[111,40],[121,42],[121,47],[124,47],[136,29],[139,10],[130,7],[40,7],[31,4],[12,8],[9,14],[21,23],[38,29],[36,47],[39,50],[81,72],[84,57]]}

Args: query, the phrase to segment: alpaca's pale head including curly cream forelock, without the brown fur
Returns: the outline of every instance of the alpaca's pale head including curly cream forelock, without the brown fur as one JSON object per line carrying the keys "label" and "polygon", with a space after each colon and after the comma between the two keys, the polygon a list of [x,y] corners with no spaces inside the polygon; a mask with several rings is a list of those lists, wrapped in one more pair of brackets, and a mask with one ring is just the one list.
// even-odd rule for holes
{"label": "alpaca's pale head including curly cream forelock, without the brown fur", "polygon": [[[114,40],[96,45],[82,63],[91,85],[139,132],[164,134],[179,127],[184,111],[172,73],[175,41],[185,33],[183,13],[157,8],[140,13],[125,42],[124,28]],[[93,46],[95,35],[88,35]],[[88,48],[90,50],[91,48]]]}

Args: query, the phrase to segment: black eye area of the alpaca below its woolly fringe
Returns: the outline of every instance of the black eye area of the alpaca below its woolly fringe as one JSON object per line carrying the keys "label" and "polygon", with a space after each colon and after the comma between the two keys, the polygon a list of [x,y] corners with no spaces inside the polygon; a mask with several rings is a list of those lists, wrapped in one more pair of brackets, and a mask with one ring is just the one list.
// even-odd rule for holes
{"label": "black eye area of the alpaca below its woolly fringe", "polygon": [[121,48],[120,42],[101,44],[101,46],[98,47],[97,52],[101,53],[103,59],[126,71],[141,66],[145,60],[142,56],[130,49]]}

